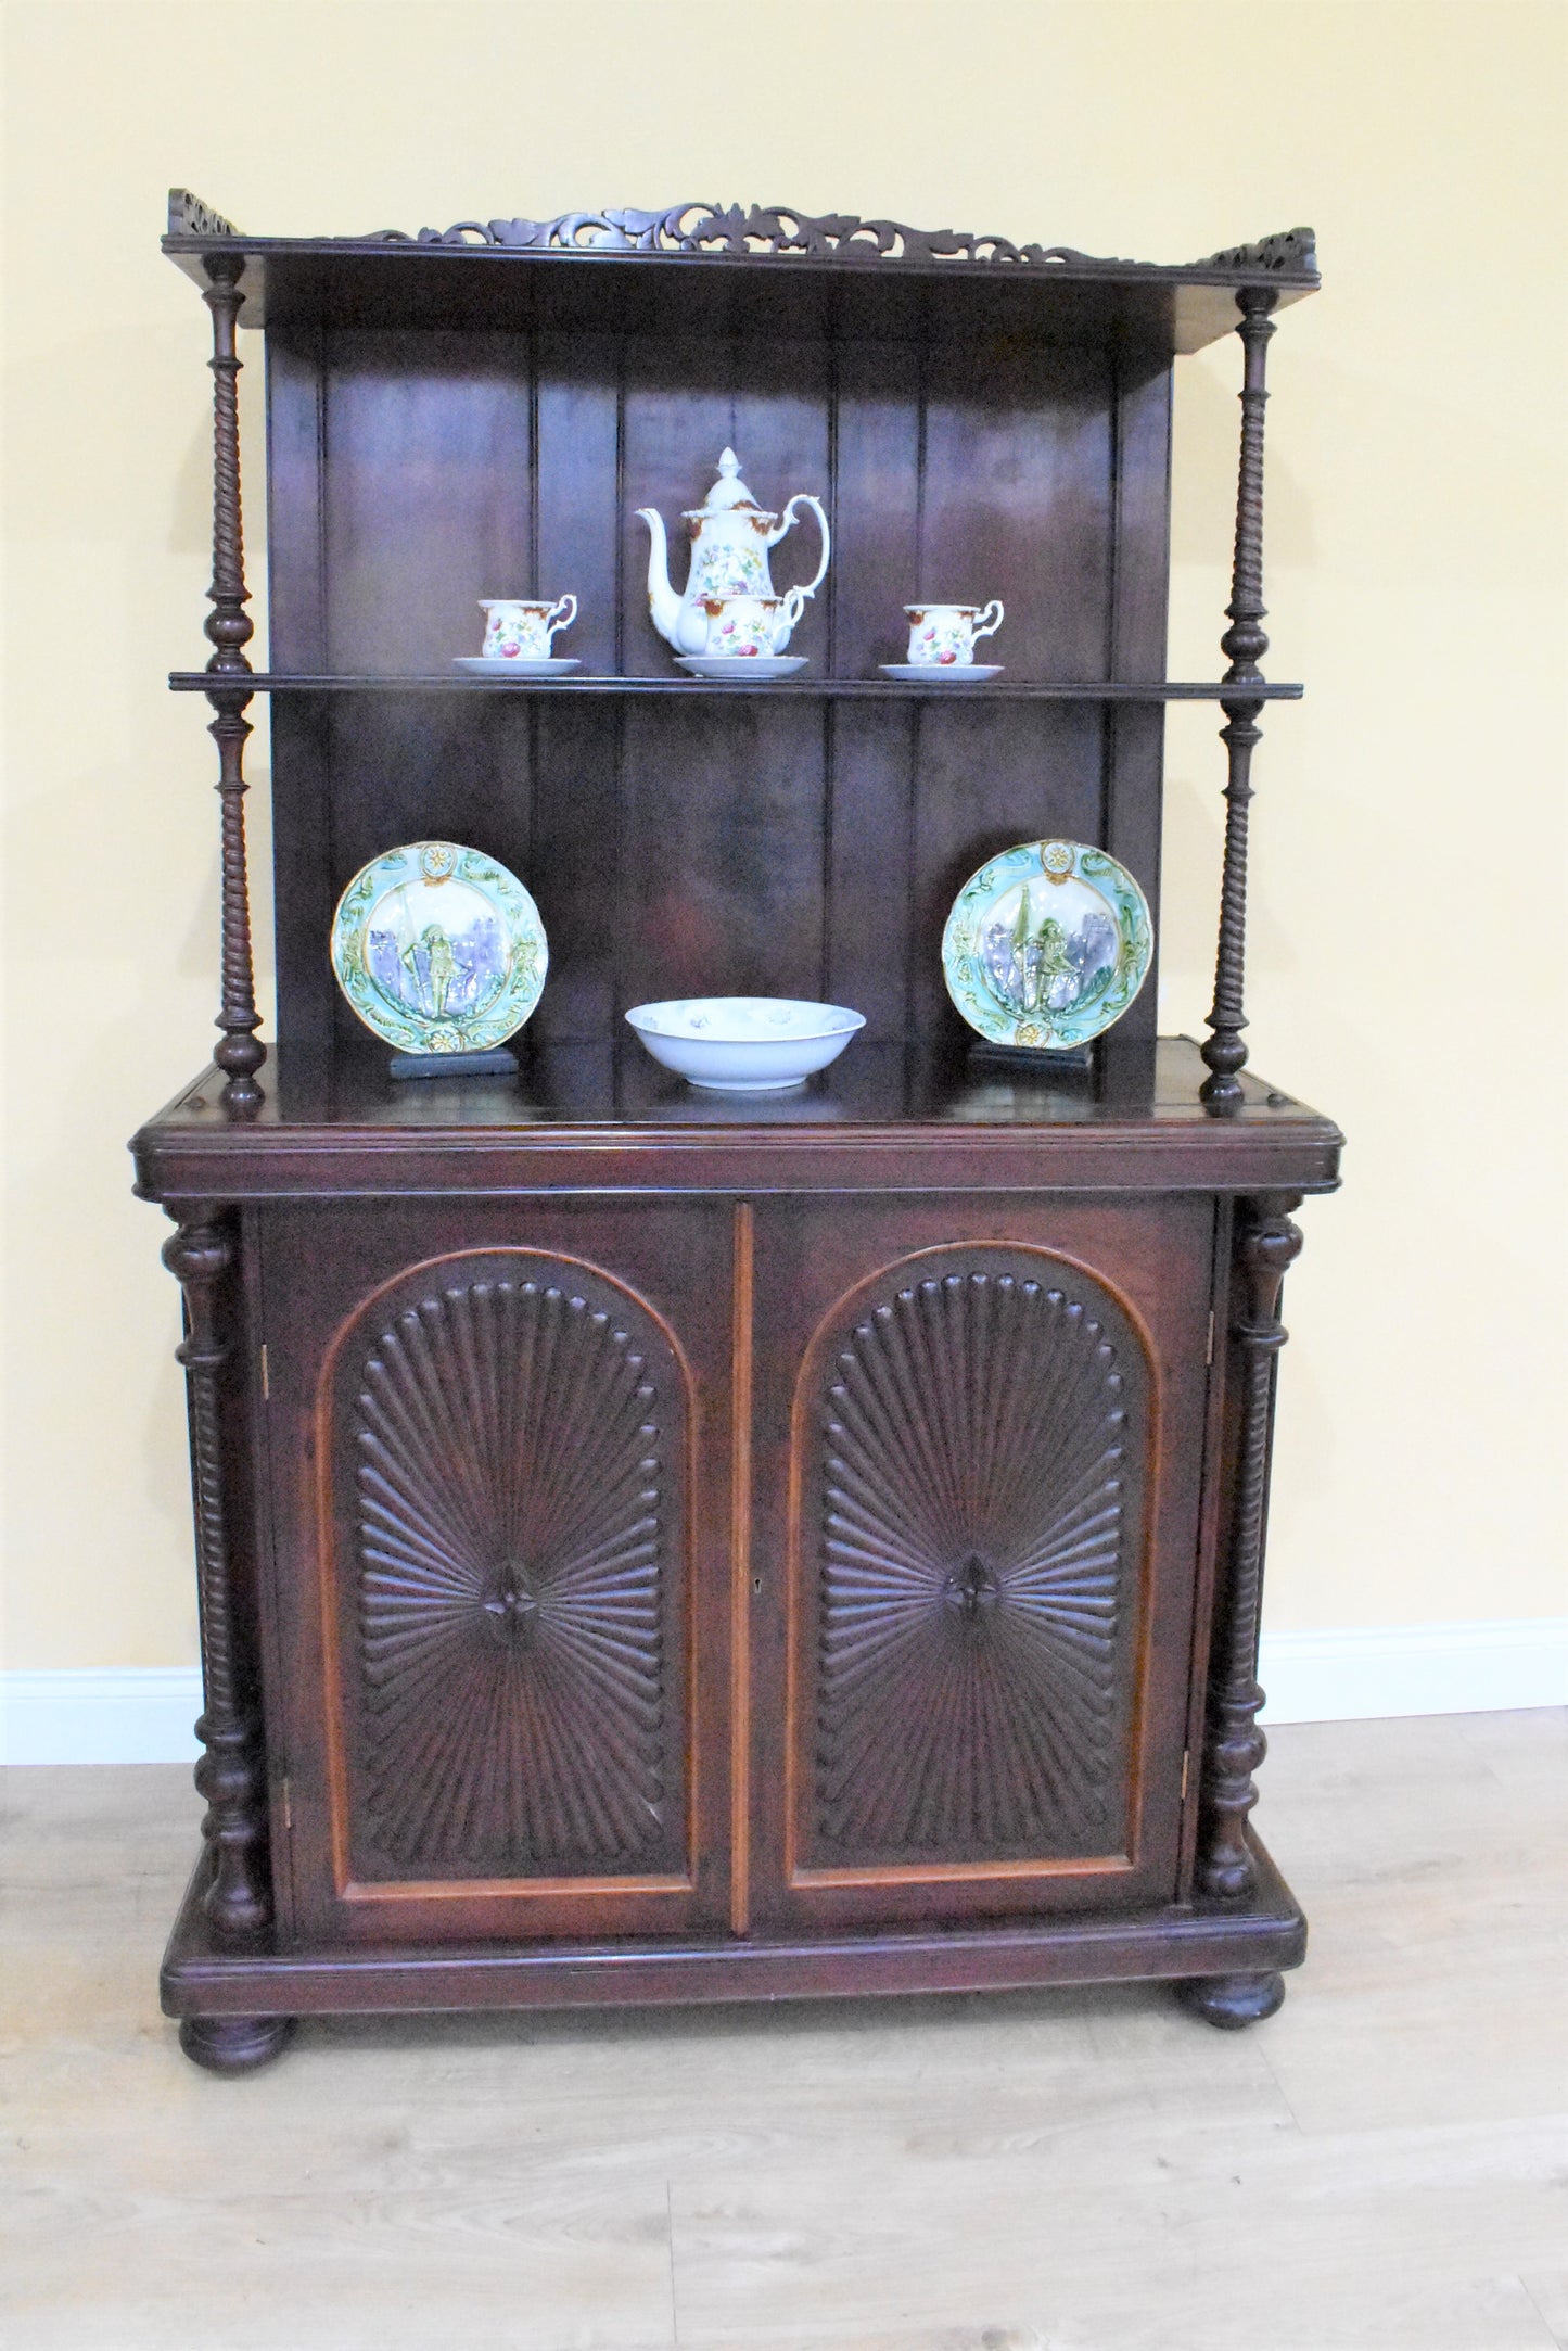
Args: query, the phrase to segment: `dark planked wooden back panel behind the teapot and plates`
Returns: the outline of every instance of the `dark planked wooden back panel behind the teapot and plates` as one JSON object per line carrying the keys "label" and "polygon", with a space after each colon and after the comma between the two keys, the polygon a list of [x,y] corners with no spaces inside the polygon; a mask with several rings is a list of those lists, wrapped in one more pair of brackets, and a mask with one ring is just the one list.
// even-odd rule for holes
{"label": "dark planked wooden back panel behind the teapot and plates", "polygon": [[[985,856],[1046,832],[1128,863],[1159,936],[1159,717],[1018,689],[1164,682],[1168,350],[1001,324],[889,341],[849,313],[830,334],[773,284],[771,331],[273,329],[273,665],[369,679],[324,712],[310,694],[273,710],[280,860],[313,868],[277,893],[284,1037],[353,1030],[324,922],[395,839],[470,842],[524,877],[559,1041],[658,994],[860,983],[872,1037],[957,1037],[947,907]],[[724,444],[764,503],[823,494],[835,560],[792,649],[870,710],[679,691],[635,510],[665,517],[679,585],[679,517]],[[813,541],[804,517],[776,548],[778,588],[809,576]],[[480,597],[567,588],[585,686],[611,668],[675,691],[395,691],[458,675]],[[886,689],[877,663],[919,595],[1006,602],[1011,691]],[[1150,976],[1126,1037],[1152,1037],[1154,1004]]]}

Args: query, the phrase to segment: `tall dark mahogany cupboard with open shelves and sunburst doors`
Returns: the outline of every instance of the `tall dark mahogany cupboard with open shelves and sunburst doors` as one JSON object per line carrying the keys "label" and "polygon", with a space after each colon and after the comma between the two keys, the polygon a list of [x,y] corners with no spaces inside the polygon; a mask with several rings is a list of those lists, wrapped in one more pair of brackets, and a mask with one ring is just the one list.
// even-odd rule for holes
{"label": "tall dark mahogany cupboard with open shelves and sunburst doors", "polygon": [[[1267,2015],[1305,1923],[1253,1836],[1291,1208],[1338,1131],[1246,1072],[1262,367],[1305,230],[1185,268],[788,212],[244,237],[214,322],[214,1067],[134,1140],[176,1223],[207,1846],[190,2057],[317,2010],[1175,1980]],[[266,329],[270,668],[247,658],[237,327]],[[1239,329],[1225,677],[1164,675],[1173,360]],[[637,505],[717,451],[820,489],[799,682],[679,677]],[[785,545],[778,576],[788,581]],[[583,668],[454,670],[571,588]],[[1001,595],[999,684],[886,682]],[[1225,715],[1211,1037],[1154,985],[1084,1065],[994,1056],[940,924],[1100,842],[1159,931],[1161,717]],[[242,752],[270,710],[277,1044]],[[515,1077],[397,1084],[331,907],[400,839],[534,891]],[[698,1098],[628,1004],[830,997],[804,1096]]]}

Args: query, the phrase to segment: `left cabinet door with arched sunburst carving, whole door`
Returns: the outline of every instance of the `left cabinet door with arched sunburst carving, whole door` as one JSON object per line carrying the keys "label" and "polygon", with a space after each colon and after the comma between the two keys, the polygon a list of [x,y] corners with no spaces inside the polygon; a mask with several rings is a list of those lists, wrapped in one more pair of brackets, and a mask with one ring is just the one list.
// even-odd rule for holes
{"label": "left cabinet door with arched sunburst carving, whole door", "polygon": [[729,1251],[701,1201],[268,1211],[296,1933],[724,1914]]}

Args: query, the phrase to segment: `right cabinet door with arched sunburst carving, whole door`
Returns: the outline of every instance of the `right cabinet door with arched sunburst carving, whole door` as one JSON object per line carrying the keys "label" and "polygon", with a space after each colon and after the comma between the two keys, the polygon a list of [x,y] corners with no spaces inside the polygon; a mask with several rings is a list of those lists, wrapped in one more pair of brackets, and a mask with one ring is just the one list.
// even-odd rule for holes
{"label": "right cabinet door with arched sunburst carving, whole door", "polygon": [[1168,1900],[1213,1204],[757,1211],[752,1918]]}

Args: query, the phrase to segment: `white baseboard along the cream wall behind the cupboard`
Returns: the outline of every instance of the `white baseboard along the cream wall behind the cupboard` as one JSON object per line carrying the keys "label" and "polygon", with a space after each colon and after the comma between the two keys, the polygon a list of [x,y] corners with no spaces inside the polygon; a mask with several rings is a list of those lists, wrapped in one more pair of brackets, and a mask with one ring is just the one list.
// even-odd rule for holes
{"label": "white baseboard along the cream wall behind the cupboard", "polygon": [[[1371,1625],[1262,1636],[1265,1723],[1568,1704],[1568,1617]],[[0,1674],[0,1763],[190,1763],[193,1667]]]}

